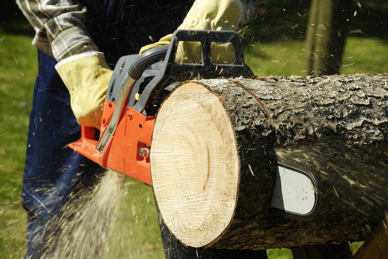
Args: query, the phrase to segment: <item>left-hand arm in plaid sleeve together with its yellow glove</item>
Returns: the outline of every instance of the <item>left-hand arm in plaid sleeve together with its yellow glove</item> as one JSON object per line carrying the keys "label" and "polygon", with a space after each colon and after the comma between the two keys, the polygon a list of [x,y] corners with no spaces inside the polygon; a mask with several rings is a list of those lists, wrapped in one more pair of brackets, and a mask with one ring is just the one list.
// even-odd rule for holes
{"label": "left-hand arm in plaid sleeve together with its yellow glove", "polygon": [[81,126],[99,128],[112,70],[85,26],[86,8],[77,0],[17,0],[35,29],[32,44],[54,57]]}

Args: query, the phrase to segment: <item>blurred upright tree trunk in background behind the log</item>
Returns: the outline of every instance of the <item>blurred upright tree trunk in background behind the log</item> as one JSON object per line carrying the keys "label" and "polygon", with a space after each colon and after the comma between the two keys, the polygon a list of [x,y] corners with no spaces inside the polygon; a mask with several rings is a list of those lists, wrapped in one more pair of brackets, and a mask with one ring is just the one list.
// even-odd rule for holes
{"label": "blurred upright tree trunk in background behind the log", "polygon": [[338,74],[352,0],[312,0],[307,26],[304,75]]}

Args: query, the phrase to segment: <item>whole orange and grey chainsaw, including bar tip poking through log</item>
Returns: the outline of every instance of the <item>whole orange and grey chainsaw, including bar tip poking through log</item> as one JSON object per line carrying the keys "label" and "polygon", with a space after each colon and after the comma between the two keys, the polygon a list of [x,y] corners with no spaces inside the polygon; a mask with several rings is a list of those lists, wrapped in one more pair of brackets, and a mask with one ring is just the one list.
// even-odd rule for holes
{"label": "whole orange and grey chainsaw, including bar tip poking through log", "polygon": [[[241,38],[234,31],[177,30],[172,39],[168,46],[118,60],[108,86],[100,130],[81,127],[81,139],[70,148],[103,168],[152,186],[149,153],[155,115],[170,91],[187,80],[254,76],[245,64]],[[181,42],[200,43],[200,62],[176,62]],[[234,62],[212,64],[212,43],[231,43]],[[305,190],[312,191],[306,194]],[[271,209],[282,216],[309,217],[315,211],[317,193],[311,173],[277,163]]]}

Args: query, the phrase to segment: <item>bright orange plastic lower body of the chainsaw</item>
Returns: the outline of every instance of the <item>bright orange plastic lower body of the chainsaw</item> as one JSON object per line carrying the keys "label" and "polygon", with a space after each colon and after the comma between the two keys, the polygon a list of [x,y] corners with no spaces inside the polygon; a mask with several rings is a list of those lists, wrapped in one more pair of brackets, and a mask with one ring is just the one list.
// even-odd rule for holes
{"label": "bright orange plastic lower body of the chainsaw", "polygon": [[[113,110],[114,103],[105,100],[100,136],[107,129],[107,122],[110,121]],[[82,127],[81,139],[69,147],[103,168],[125,173],[152,186],[149,156],[147,154],[141,156],[139,151],[150,149],[154,121],[155,117],[143,115],[126,107],[116,131],[102,151],[97,150],[99,139],[96,139],[97,130],[93,127]]]}

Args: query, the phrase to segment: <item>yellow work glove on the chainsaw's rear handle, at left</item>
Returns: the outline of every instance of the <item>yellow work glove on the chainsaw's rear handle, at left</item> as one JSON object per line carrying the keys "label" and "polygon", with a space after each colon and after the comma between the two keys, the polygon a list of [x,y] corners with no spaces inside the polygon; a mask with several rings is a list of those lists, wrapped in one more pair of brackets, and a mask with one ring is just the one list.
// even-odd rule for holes
{"label": "yellow work glove on the chainsaw's rear handle, at left", "polygon": [[102,53],[84,53],[65,58],[55,69],[70,92],[70,105],[78,123],[101,127],[105,95],[113,71]]}

